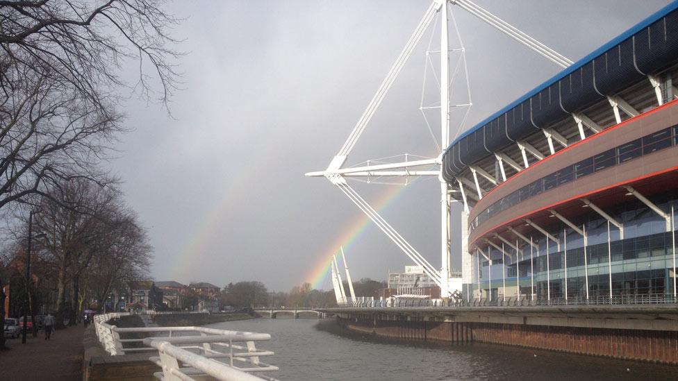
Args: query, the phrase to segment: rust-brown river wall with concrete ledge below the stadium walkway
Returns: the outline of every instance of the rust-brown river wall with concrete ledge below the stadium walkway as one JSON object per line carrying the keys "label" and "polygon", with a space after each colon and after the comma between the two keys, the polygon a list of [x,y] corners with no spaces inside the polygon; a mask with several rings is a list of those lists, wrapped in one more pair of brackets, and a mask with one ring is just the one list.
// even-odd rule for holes
{"label": "rust-brown river wall with concrete ledge below the stadium walkway", "polygon": [[[609,306],[612,307],[612,306]],[[342,328],[405,341],[473,341],[678,364],[678,308],[334,309]],[[389,311],[390,310],[390,311]],[[329,312],[329,311],[328,311]]]}

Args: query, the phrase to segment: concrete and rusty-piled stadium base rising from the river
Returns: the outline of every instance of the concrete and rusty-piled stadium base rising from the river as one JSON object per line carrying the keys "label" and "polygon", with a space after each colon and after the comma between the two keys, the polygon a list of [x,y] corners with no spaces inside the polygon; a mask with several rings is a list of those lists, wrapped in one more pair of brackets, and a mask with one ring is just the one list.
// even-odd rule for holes
{"label": "concrete and rusty-piled stadium base rising from the river", "polygon": [[[338,311],[335,311],[338,312]],[[553,312],[557,314],[557,312]],[[562,314],[562,312],[561,312]],[[487,319],[488,316],[436,316],[425,312],[406,314],[384,310],[372,314],[339,312],[338,324],[348,330],[405,341],[472,341],[556,350],[568,353],[631,359],[662,364],[678,364],[678,330],[672,329],[673,319],[660,324],[650,316],[629,315],[627,319],[610,319],[604,327],[602,316],[568,316],[568,324],[549,325],[555,316],[542,319]],[[481,319],[478,319],[478,318]],[[498,316],[496,316],[498,318]],[[645,319],[643,319],[643,317]],[[640,318],[640,319],[639,319]],[[469,320],[469,321],[464,321]],[[638,328],[645,321],[643,328]],[[654,323],[654,324],[653,324]],[[652,329],[654,325],[668,330]],[[678,328],[678,325],[677,327]]]}

